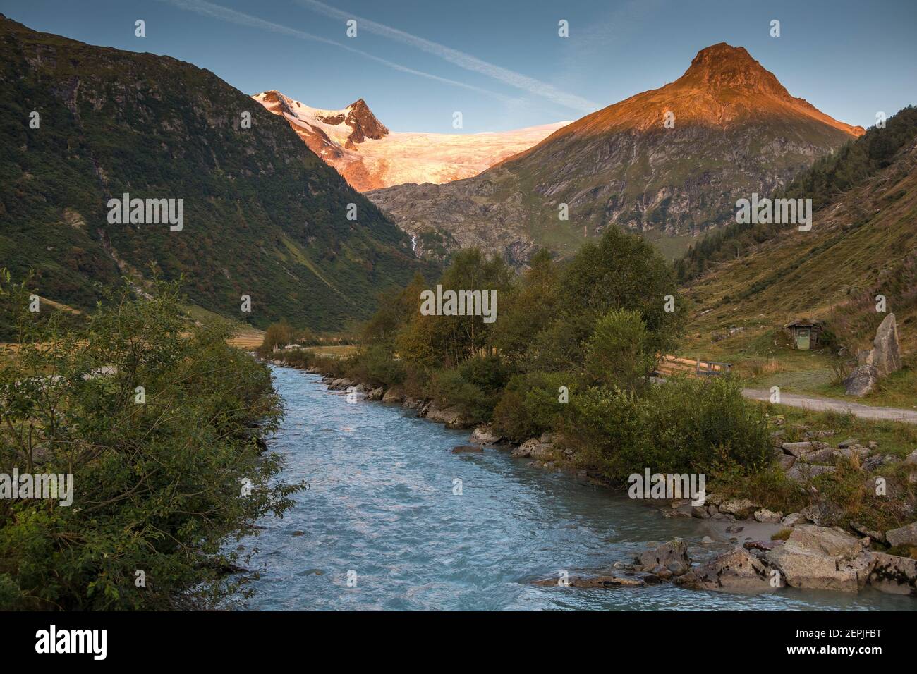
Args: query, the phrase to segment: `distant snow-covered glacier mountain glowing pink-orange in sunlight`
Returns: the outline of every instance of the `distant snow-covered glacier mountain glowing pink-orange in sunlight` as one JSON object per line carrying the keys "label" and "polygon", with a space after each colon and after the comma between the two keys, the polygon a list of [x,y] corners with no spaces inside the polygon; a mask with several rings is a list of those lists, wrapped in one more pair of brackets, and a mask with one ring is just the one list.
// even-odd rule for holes
{"label": "distant snow-covered glacier mountain glowing pink-orange in sunlight", "polygon": [[402,182],[469,178],[547,138],[568,122],[500,133],[391,132],[360,98],[343,110],[309,107],[277,91],[252,96],[360,192]]}

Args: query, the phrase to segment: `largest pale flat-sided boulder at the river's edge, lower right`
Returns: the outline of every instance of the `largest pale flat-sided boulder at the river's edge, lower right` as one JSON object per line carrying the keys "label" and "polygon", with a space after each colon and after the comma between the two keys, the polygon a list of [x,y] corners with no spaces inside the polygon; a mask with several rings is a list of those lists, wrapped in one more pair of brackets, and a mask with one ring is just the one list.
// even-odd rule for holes
{"label": "largest pale flat-sided boulder at the river's edge, lower right", "polygon": [[846,592],[866,583],[874,561],[863,541],[817,525],[797,525],[766,558],[790,587]]}

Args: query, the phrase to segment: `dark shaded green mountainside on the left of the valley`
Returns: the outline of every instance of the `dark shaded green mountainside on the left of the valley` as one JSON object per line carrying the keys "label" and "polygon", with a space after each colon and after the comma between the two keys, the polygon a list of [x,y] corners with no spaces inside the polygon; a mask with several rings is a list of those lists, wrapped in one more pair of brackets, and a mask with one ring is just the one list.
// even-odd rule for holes
{"label": "dark shaded green mountainside on the left of the valley", "polygon": [[[34,270],[40,295],[89,308],[95,282],[149,277],[155,261],[205,309],[331,330],[429,271],[289,125],[214,73],[2,16],[0,56],[0,267]],[[354,132],[378,135],[368,119]],[[181,229],[111,222],[124,193],[182,199]]]}

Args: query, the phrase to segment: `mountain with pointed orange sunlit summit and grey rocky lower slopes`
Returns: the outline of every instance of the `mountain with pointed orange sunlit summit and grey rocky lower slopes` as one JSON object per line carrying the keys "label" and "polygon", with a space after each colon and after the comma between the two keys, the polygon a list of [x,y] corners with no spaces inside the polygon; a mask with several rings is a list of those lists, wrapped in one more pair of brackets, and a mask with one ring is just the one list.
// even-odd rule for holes
{"label": "mountain with pointed orange sunlit summit and grey rocky lower slopes", "polygon": [[737,198],[769,193],[863,133],[791,96],[744,48],[720,43],[674,83],[582,117],[479,176],[369,196],[434,244],[422,254],[481,246],[524,263],[541,246],[567,253],[617,226],[674,257],[728,221]]}

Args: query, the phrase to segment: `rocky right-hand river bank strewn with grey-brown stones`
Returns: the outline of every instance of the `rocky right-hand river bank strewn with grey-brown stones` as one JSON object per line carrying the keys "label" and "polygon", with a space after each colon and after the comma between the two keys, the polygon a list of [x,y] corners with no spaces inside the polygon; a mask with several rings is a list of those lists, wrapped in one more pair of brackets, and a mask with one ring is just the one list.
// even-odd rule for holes
{"label": "rocky right-hand river bank strewn with grey-brown stones", "polygon": [[[325,381],[321,381],[319,385],[323,388],[327,388],[328,384],[331,384],[331,390],[337,393],[336,398],[338,404],[340,404],[340,397],[343,397],[347,402],[359,403],[370,402],[370,399],[373,398],[381,402],[381,398],[384,397],[384,393],[380,393],[375,389],[366,392],[357,391],[357,389],[364,389],[367,387],[362,387],[359,385],[359,382],[355,381],[337,381],[336,383],[334,380],[328,381],[326,379]],[[389,399],[390,403],[392,403],[391,398],[392,396],[390,396]],[[348,414],[348,411],[361,410],[367,406],[369,405],[344,403],[341,414]],[[425,406],[427,406],[427,403],[421,402],[419,412],[423,413],[425,411]],[[385,410],[386,414],[398,414],[399,418],[404,420],[413,418],[416,418],[418,422],[422,422],[425,419],[429,420],[429,417],[414,417],[414,414],[418,412],[416,401],[403,401],[397,407],[393,404],[382,405],[381,410]],[[428,408],[426,412],[429,412]],[[747,504],[743,503],[725,503],[724,510],[728,511],[733,509],[738,510],[738,512],[724,512],[721,517],[716,519],[713,517],[691,517],[690,514],[686,513],[683,503],[674,503],[675,507],[672,507],[669,503],[665,503],[662,508],[646,507],[645,503],[623,498],[619,493],[609,490],[607,485],[599,484],[583,471],[570,469],[569,465],[564,465],[563,463],[554,463],[550,465],[551,461],[533,459],[531,456],[529,457],[531,460],[520,462],[517,460],[520,458],[517,452],[519,446],[501,445],[500,443],[481,443],[470,446],[475,447],[475,450],[460,451],[458,455],[453,455],[451,453],[453,447],[468,446],[471,439],[481,440],[488,438],[485,437],[486,434],[483,433],[482,429],[474,434],[476,437],[470,438],[465,435],[467,429],[450,429],[447,427],[449,423],[449,420],[447,420],[443,422],[442,426],[432,427],[442,427],[443,432],[451,436],[450,441],[453,445],[448,448],[447,453],[453,460],[498,460],[520,466],[520,470],[522,470],[522,467],[525,467],[524,470],[529,473],[530,479],[531,474],[535,473],[536,476],[542,476],[540,478],[541,480],[552,484],[556,484],[558,480],[563,480],[578,485],[580,488],[589,485],[591,490],[596,490],[598,493],[602,494],[600,500],[604,500],[604,509],[612,506],[620,508],[623,503],[626,503],[626,511],[629,514],[640,513],[640,517],[644,521],[650,519],[654,521],[659,528],[668,531],[668,534],[664,536],[646,536],[639,544],[630,546],[626,553],[619,554],[616,558],[604,558],[602,564],[587,563],[577,566],[568,565],[562,568],[567,572],[567,581],[573,587],[608,588],[620,584],[627,584],[640,585],[644,588],[643,591],[657,592],[659,591],[657,584],[665,584],[667,587],[674,590],[676,586],[670,582],[674,580],[675,582],[679,582],[683,587],[694,587],[701,590],[711,590],[715,587],[718,590],[725,589],[743,592],[759,591],[771,595],[774,592],[792,593],[796,591],[792,587],[784,587],[787,584],[786,579],[789,578],[792,580],[790,585],[799,583],[798,587],[805,589],[800,591],[808,591],[809,588],[813,587],[822,587],[825,590],[833,591],[851,591],[850,586],[853,583],[856,589],[851,591],[850,596],[874,598],[877,595],[877,592],[867,585],[869,575],[877,568],[877,565],[872,563],[871,558],[869,564],[867,564],[867,566],[871,568],[866,575],[864,575],[865,571],[862,568],[852,572],[847,569],[842,569],[844,572],[838,575],[838,564],[836,563],[838,560],[844,558],[842,561],[852,561],[861,553],[865,552],[863,544],[859,542],[859,539],[851,536],[853,543],[856,543],[856,545],[851,544],[847,549],[837,549],[838,541],[844,544],[851,543],[851,541],[847,538],[838,537],[841,536],[840,532],[835,532],[829,527],[820,527],[811,522],[807,523],[807,517],[800,516],[797,518],[798,521],[793,523],[791,527],[786,527],[782,522],[757,522],[754,519],[754,511],[749,514]],[[451,424],[456,425],[454,420],[452,420]],[[430,427],[429,425],[427,426]],[[349,427],[354,428],[354,426]],[[541,443],[541,438],[538,439],[538,445],[547,444]],[[481,451],[477,451],[479,448]],[[512,458],[514,451],[517,452],[516,459]],[[545,470],[546,467],[557,468],[558,470]],[[539,478],[536,477],[535,479]],[[713,499],[716,500],[715,494],[713,494]],[[722,506],[723,504],[723,501],[720,501],[720,505]],[[710,505],[713,505],[713,503],[710,503]],[[596,504],[595,507],[599,508],[600,511],[602,510],[602,505]],[[667,510],[668,512],[666,512]],[[666,512],[669,516],[660,516],[660,511]],[[499,527],[501,523],[499,521],[492,521],[492,525]],[[792,531],[790,536],[788,536],[790,538],[789,541],[786,543],[783,541],[770,541],[770,536],[786,528],[790,528]],[[658,534],[659,529],[656,529],[656,532]],[[673,534],[681,537],[685,542],[686,549],[684,553],[689,559],[687,563],[676,560],[678,558],[683,559],[681,546],[678,541],[672,541],[668,546],[666,544],[666,541],[670,540],[668,536]],[[795,536],[795,538],[793,538],[793,536]],[[834,548],[831,547],[831,544],[834,544]],[[828,546],[828,549],[824,549],[825,545]],[[783,568],[792,572],[784,576],[784,581],[780,583],[779,588],[773,587],[771,585],[771,577],[768,575],[768,571],[774,568],[774,564],[770,561],[770,558],[774,555],[774,549],[783,546],[786,546],[784,548],[785,550],[793,552],[790,562],[799,562],[800,559],[819,562],[822,565],[820,567],[821,575],[816,576],[810,573],[808,580],[806,580],[799,576],[798,569],[792,571],[790,562],[784,562]],[[672,552],[673,550],[675,550],[674,553]],[[643,563],[640,563],[638,560],[641,556],[646,556],[650,551],[652,551],[652,554],[649,555],[649,558],[658,558],[660,562],[665,563],[654,564],[653,567],[646,568],[648,558],[645,558]],[[832,554],[829,554],[829,552]],[[881,553],[869,552],[868,554],[874,555]],[[847,559],[848,557],[850,559]],[[883,564],[888,563],[887,559],[880,559],[880,561],[882,561]],[[834,572],[831,574],[823,573],[825,569],[824,565],[833,562]],[[798,566],[799,564],[797,564],[797,567]],[[558,569],[561,568],[558,567]],[[655,573],[653,572],[654,569]],[[672,569],[674,569],[674,571]],[[851,575],[851,573],[854,575]],[[856,575],[857,573],[858,575]],[[711,578],[717,579],[713,587],[710,586]],[[841,580],[838,580],[839,578]],[[626,581],[613,581],[609,583],[609,579],[625,579]],[[720,579],[725,580],[721,582]],[[859,579],[863,579],[862,586],[859,584]],[[526,582],[534,583],[539,580],[547,584],[557,584],[558,570],[551,570],[547,574],[543,574],[541,578],[538,578],[537,575],[535,577],[530,577]],[[878,578],[878,574],[876,581],[877,587],[881,586],[882,583],[879,582],[880,579]],[[596,585],[594,584],[596,582],[605,582],[605,584]],[[887,587],[886,589],[902,590],[902,588],[899,587]],[[856,590],[859,590],[859,595],[856,594]],[[582,589],[580,591],[590,590]],[[684,590],[680,590],[679,588],[679,591]],[[834,594],[834,592],[832,592],[832,594]]]}

